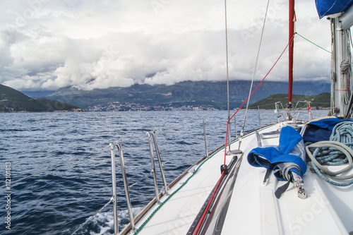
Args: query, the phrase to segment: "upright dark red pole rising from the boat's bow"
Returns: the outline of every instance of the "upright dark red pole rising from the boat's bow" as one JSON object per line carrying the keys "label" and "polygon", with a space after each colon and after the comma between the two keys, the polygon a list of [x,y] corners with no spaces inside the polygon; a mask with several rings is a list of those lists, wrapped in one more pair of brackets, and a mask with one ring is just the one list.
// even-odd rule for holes
{"label": "upright dark red pole rising from the boat's bow", "polygon": [[289,0],[289,87],[288,87],[288,108],[292,107],[292,90],[293,90],[293,49],[294,49],[294,0]]}

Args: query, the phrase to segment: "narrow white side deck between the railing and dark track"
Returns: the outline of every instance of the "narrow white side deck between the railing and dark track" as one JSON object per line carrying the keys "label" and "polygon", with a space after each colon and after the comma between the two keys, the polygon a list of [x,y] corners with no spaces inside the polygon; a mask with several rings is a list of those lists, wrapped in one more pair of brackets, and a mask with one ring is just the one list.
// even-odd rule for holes
{"label": "narrow white side deck between the railing and dark track", "polygon": [[[224,149],[216,152],[198,169],[196,174],[192,176],[193,171],[189,171],[176,185],[170,188],[169,195],[182,186],[167,203],[160,207],[139,234],[186,234],[206,198],[208,198],[220,178],[220,167],[217,166],[224,163],[224,155]],[[198,165],[193,167],[193,169],[196,169],[196,167]],[[189,177],[191,178],[189,179]],[[183,186],[187,179],[189,181]],[[164,195],[161,198],[161,202],[166,200],[167,197],[168,195]],[[157,209],[158,206],[155,205],[153,210]],[[150,214],[145,215],[141,220],[144,221],[148,217],[150,217]],[[139,225],[137,224],[136,228]]]}

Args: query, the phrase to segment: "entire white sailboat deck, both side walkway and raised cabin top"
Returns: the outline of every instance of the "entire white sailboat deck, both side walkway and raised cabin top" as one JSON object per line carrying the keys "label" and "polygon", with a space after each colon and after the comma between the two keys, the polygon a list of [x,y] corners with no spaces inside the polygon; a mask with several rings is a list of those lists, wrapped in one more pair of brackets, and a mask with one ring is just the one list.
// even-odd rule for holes
{"label": "entire white sailboat deck, both side walkway and raised cabin top", "polygon": [[[277,131],[287,123],[264,128],[259,133]],[[237,149],[238,143],[232,145]],[[262,140],[262,145],[278,145],[278,138]],[[275,190],[284,182],[271,174],[268,184],[263,185],[264,168],[251,167],[247,155],[257,147],[256,135],[244,137],[241,150],[244,152],[232,200],[222,228],[222,234],[348,234],[353,231],[353,189],[352,186],[337,187],[323,181],[316,173],[308,171],[304,175],[304,188],[308,198],[301,199],[297,188],[291,183],[280,199],[275,198]],[[136,224],[138,229],[150,217],[138,234],[186,234],[198,215],[206,198],[220,179],[220,165],[224,163],[224,148],[210,159],[197,166],[197,173],[189,179],[186,174],[171,190],[177,190],[155,214],[150,210]],[[232,156],[227,157],[228,164]],[[195,168],[194,168],[195,169]],[[167,196],[161,198],[165,200]]]}

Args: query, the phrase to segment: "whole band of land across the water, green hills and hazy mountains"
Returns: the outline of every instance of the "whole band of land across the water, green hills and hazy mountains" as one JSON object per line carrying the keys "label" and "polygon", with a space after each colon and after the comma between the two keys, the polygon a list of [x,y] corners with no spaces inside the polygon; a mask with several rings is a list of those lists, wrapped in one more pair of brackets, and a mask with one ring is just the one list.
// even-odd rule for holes
{"label": "whole band of land across the water, green hills and hazy mountains", "polygon": [[[258,83],[253,84],[253,90]],[[229,81],[231,109],[246,100],[250,86],[251,82],[246,80]],[[277,101],[286,104],[287,86],[288,83],[281,82],[262,83],[251,97],[250,107],[266,109]],[[297,95],[293,95],[293,101],[308,100],[312,107],[326,107],[330,102],[329,91],[328,83],[296,82],[293,93]],[[227,82],[185,81],[174,85],[136,84],[128,88],[96,90],[67,87],[55,92],[26,93],[41,98],[32,99],[18,90],[0,85],[0,112],[79,111],[78,107],[88,111],[227,109]]]}

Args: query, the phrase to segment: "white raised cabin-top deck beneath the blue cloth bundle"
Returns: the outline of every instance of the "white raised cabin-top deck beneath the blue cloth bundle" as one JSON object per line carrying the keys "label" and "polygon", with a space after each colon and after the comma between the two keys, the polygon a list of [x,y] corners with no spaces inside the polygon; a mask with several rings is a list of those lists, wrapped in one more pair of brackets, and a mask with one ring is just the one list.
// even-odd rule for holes
{"label": "white raised cabin-top deck beneath the blue cloth bundle", "polygon": [[[267,140],[277,145],[278,139]],[[251,151],[251,146],[244,153]],[[301,199],[291,183],[280,199],[275,191],[285,182],[270,175],[263,185],[264,168],[244,158],[234,186],[222,234],[348,234],[353,231],[353,188],[338,188],[309,169],[304,174],[308,198]],[[338,199],[340,198],[340,199]],[[349,210],[347,210],[347,207]]]}

